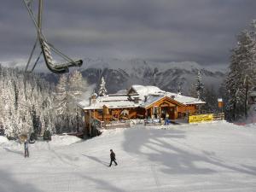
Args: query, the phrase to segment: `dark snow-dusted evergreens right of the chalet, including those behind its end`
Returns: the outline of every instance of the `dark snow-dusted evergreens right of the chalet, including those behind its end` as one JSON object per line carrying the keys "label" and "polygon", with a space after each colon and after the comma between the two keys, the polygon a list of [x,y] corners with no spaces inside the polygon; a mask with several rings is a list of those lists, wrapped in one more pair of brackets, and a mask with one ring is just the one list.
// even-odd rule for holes
{"label": "dark snow-dusted evergreens right of the chalet, including those behind its end", "polygon": [[217,100],[222,97],[225,119],[237,121],[250,115],[252,106],[248,100],[253,88],[256,88],[256,20],[237,36],[236,47],[231,49],[229,72],[220,89],[206,87],[199,71],[189,92],[190,96],[205,101],[201,109],[210,113],[220,112]]}

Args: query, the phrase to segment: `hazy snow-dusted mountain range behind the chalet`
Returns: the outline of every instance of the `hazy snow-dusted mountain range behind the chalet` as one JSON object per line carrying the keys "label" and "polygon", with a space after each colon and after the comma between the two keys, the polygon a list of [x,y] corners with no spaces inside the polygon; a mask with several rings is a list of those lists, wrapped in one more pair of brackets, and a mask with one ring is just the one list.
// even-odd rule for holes
{"label": "hazy snow-dusted mountain range behind the chalet", "polygon": [[90,84],[106,80],[110,93],[128,89],[131,84],[155,85],[162,90],[176,92],[181,87],[188,95],[191,84],[195,84],[198,70],[208,88],[218,90],[224,80],[224,71],[202,67],[193,61],[159,63],[141,59],[84,59],[80,69]]}

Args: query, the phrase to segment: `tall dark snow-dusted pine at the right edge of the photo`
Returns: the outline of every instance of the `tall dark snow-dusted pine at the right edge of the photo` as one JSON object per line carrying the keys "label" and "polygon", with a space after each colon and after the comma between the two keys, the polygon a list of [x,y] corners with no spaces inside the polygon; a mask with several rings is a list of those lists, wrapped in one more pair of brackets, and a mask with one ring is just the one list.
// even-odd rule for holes
{"label": "tall dark snow-dusted pine at the right edge of the photo", "polygon": [[247,117],[247,92],[256,82],[256,42],[247,30],[238,36],[236,48],[232,49],[230,73],[226,79],[229,119]]}

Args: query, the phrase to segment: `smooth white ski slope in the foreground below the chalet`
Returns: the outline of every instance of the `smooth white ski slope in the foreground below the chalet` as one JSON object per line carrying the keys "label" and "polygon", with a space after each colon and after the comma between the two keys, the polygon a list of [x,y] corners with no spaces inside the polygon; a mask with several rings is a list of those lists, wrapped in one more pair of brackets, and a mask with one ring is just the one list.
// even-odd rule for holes
{"label": "smooth white ski slope in the foreground below the chalet", "polygon": [[[116,129],[87,141],[30,145],[29,159],[0,137],[0,191],[253,192],[255,128],[222,122]],[[119,166],[108,167],[109,148]]]}

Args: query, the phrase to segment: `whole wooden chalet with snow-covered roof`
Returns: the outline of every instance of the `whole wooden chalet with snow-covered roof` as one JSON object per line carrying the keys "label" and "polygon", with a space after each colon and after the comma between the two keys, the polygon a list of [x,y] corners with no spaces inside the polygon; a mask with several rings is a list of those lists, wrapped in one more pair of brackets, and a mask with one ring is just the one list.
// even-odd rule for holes
{"label": "whole wooden chalet with snow-covered roof", "polygon": [[205,102],[198,98],[166,92],[155,86],[132,85],[129,90],[119,90],[116,94],[90,96],[81,102],[84,110],[85,127],[90,119],[109,122],[120,119],[164,118],[183,119],[188,114],[197,113]]}

